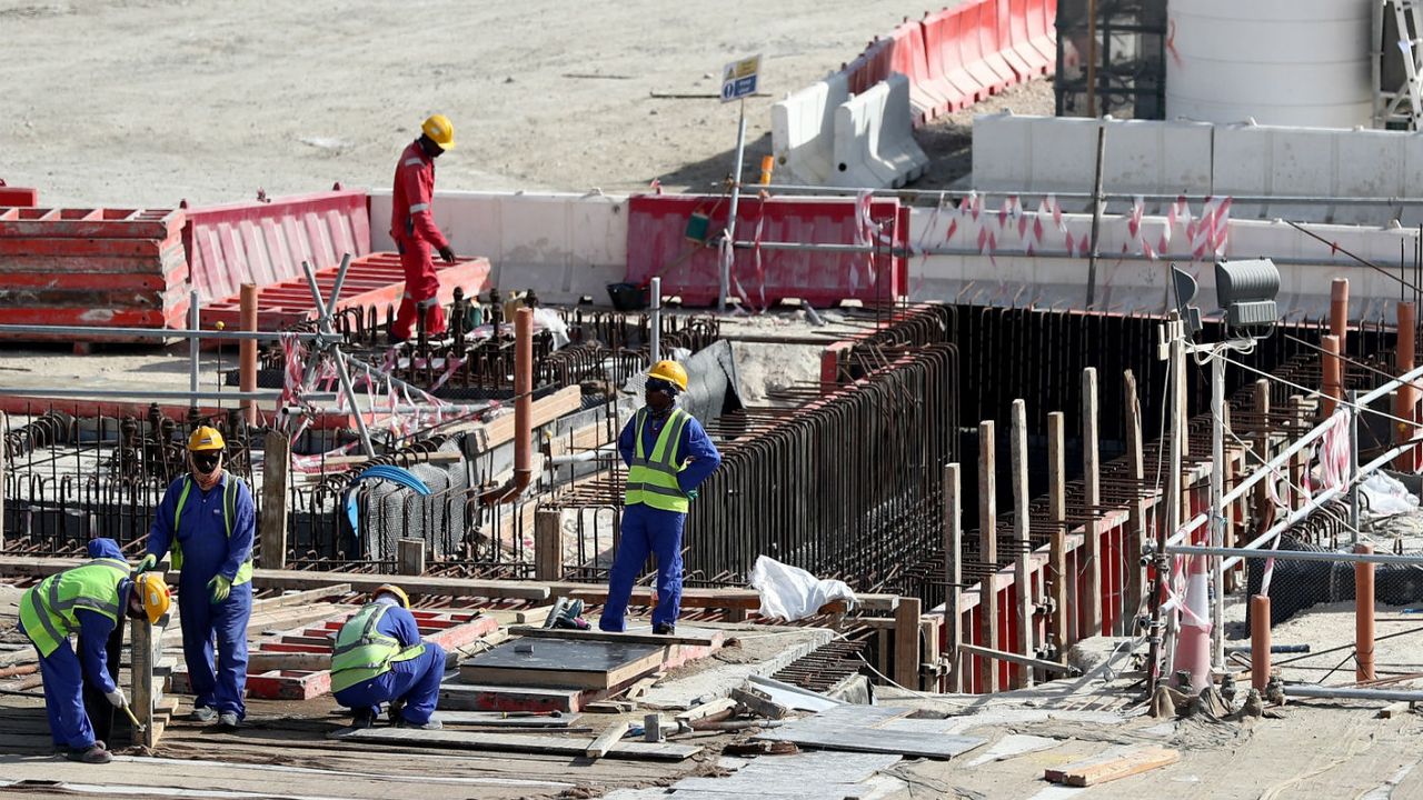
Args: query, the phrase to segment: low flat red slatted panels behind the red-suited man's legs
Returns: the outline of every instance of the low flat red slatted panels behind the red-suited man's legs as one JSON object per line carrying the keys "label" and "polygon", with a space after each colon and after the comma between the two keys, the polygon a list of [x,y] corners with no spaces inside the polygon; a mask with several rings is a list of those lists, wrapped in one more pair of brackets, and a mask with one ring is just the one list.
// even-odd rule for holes
{"label": "low flat red slatted panels behind the red-suited man's legs", "polygon": [[[323,298],[330,298],[339,269],[330,266],[317,270],[316,285]],[[490,259],[485,258],[461,258],[454,263],[437,260],[435,273],[440,276],[438,298],[443,305],[454,302],[455,288],[462,289],[465,298],[490,288]],[[400,295],[404,290],[406,275],[400,268],[400,256],[388,252],[370,253],[351,260],[336,309],[396,306],[400,305]],[[206,303],[202,306],[202,325],[211,327],[222,322],[235,329],[240,322],[239,312],[238,298]],[[259,330],[279,330],[314,316],[316,306],[312,303],[312,290],[305,276],[268,285],[258,292]]]}

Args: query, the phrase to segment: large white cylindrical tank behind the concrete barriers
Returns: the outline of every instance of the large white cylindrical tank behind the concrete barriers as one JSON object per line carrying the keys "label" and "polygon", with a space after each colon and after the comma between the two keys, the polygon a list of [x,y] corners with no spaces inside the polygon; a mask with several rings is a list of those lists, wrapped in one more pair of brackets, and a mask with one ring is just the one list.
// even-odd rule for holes
{"label": "large white cylindrical tank behind the concrete barriers", "polygon": [[1375,4],[1170,0],[1167,120],[1368,127]]}

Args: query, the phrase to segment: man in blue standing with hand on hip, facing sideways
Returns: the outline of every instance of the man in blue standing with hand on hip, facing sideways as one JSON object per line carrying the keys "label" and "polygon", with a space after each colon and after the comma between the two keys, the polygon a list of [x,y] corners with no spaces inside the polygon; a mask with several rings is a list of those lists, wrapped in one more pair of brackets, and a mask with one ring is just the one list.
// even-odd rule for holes
{"label": "man in blue standing with hand on hip, facing sideways", "polygon": [[618,450],[628,464],[618,555],[608,585],[608,604],[598,626],[623,631],[632,584],[647,561],[657,557],[657,608],[653,633],[673,633],[682,606],[682,528],[687,508],[721,454],[702,423],[677,409],[687,390],[687,372],[677,362],[657,362],[647,373],[646,406],[623,426]]}

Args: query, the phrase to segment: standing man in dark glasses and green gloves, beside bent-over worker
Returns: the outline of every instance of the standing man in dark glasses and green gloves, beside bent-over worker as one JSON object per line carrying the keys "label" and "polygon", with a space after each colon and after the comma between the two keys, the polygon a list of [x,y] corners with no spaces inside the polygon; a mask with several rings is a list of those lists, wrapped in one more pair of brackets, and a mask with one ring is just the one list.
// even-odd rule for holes
{"label": "standing man in dark glasses and green gloves, beside bent-over worker", "polygon": [[196,695],[192,719],[236,727],[246,716],[256,508],[246,484],[223,468],[225,451],[216,428],[201,426],[188,437],[188,474],[164,494],[138,568],[152,569],[172,548],[172,565],[181,571],[182,655]]}

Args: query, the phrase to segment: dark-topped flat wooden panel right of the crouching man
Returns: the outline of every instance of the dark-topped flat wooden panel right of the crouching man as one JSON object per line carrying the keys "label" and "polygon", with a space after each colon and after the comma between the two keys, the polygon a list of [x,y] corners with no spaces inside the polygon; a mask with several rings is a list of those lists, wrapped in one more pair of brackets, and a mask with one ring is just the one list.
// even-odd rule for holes
{"label": "dark-topped flat wooden panel right of the crouching man", "polygon": [[[531,648],[531,652],[519,652]],[[612,689],[662,666],[669,648],[598,641],[511,641],[460,665],[465,683]]]}

